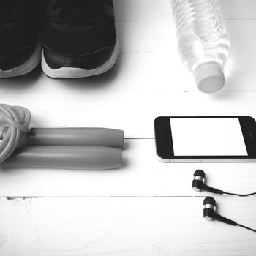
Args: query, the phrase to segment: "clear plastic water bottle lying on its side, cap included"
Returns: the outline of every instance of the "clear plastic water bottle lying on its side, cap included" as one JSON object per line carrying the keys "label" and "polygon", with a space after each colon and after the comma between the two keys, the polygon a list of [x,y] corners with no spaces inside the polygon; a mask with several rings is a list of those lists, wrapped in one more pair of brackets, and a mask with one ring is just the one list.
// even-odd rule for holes
{"label": "clear plastic water bottle lying on its side, cap included", "polygon": [[206,93],[225,85],[223,68],[230,56],[230,39],[219,0],[171,0],[178,50],[184,65]]}

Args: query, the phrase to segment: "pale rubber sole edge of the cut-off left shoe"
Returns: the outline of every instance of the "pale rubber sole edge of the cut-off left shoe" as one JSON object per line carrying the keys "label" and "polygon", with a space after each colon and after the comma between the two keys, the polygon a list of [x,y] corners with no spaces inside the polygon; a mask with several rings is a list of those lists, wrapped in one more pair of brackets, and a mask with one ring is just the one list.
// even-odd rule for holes
{"label": "pale rubber sole edge of the cut-off left shoe", "polygon": [[37,42],[36,48],[34,49],[34,53],[29,57],[29,59],[21,64],[18,67],[15,67],[10,70],[1,70],[0,69],[0,78],[13,78],[19,75],[25,75],[31,72],[33,69],[37,67],[41,60],[42,55],[42,44],[41,42]]}

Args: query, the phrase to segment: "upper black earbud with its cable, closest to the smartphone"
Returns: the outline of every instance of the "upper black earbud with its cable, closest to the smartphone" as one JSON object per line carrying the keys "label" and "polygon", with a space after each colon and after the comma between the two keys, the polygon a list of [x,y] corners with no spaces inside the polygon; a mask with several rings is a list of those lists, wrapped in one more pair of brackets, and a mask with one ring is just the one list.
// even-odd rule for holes
{"label": "upper black earbud with its cable, closest to the smartphone", "polygon": [[248,197],[249,195],[256,195],[256,192],[250,193],[250,194],[235,194],[230,192],[224,192],[219,189],[215,189],[214,187],[209,187],[205,184],[206,181],[206,173],[203,170],[196,170],[194,173],[194,178],[192,181],[192,189],[194,189],[197,192],[200,192],[201,190],[206,190],[208,192],[212,192],[215,194],[220,195],[238,195],[239,197]]}

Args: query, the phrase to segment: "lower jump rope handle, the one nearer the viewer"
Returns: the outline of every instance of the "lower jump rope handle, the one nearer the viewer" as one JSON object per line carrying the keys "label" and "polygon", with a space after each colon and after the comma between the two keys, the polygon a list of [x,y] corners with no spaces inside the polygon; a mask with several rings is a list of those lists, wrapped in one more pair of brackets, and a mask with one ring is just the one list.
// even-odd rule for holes
{"label": "lower jump rope handle, the one nearer the viewer", "polygon": [[27,146],[17,148],[1,168],[35,167],[76,170],[121,168],[121,148],[105,146]]}

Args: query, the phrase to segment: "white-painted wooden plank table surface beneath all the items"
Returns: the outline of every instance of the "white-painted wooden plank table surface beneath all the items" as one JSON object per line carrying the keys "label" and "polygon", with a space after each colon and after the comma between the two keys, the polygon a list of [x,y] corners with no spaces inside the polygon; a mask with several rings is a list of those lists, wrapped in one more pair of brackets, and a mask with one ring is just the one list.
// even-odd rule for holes
{"label": "white-painted wooden plank table surface beneath all the items", "polygon": [[[126,133],[124,168],[0,170],[0,255],[256,255],[256,234],[202,217],[208,184],[256,190],[256,164],[163,164],[157,116],[256,118],[256,1],[222,0],[232,40],[227,85],[197,91],[176,52],[169,0],[116,0],[121,55],[106,75],[50,80],[37,69],[0,80],[0,102],[31,110],[33,127],[112,127]],[[221,214],[256,228],[256,197],[215,196]]]}

